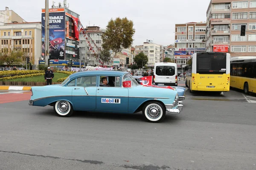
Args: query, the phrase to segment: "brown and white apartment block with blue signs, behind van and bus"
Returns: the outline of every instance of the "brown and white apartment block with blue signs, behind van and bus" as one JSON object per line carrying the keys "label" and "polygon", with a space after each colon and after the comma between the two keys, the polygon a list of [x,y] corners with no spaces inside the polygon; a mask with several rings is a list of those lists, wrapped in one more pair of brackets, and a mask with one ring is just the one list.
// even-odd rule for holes
{"label": "brown and white apartment block with blue signs, behind van and bus", "polygon": [[206,51],[206,23],[175,24],[174,59],[182,72],[186,61],[196,52]]}

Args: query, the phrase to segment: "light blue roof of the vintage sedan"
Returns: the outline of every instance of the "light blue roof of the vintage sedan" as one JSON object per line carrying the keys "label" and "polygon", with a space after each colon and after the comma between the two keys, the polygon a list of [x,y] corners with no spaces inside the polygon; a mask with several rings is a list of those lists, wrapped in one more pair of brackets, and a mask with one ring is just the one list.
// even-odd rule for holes
{"label": "light blue roof of the vintage sedan", "polygon": [[81,71],[70,75],[70,79],[77,77],[77,76],[84,76],[84,75],[95,75],[95,74],[103,74],[103,75],[124,75],[129,74],[126,71],[106,71],[106,70],[96,70],[96,71]]}

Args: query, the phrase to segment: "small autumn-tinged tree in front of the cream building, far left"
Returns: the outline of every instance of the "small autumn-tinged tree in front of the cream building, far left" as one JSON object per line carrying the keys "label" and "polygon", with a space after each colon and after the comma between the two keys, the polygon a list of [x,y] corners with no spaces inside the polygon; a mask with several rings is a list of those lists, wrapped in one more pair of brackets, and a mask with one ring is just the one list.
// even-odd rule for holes
{"label": "small autumn-tinged tree in front of the cream building, far left", "polygon": [[20,65],[22,63],[23,52],[20,49],[12,50],[9,53],[1,54],[1,61],[5,62],[9,66],[13,66],[14,64]]}

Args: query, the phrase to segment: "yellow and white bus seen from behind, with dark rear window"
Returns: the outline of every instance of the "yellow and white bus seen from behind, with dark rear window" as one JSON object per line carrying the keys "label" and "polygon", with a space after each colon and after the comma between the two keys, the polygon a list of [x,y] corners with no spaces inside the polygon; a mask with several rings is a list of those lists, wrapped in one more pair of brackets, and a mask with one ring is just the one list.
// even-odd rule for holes
{"label": "yellow and white bus seen from behind, with dark rear window", "polygon": [[189,91],[227,92],[230,90],[230,54],[195,53],[188,60],[186,87]]}

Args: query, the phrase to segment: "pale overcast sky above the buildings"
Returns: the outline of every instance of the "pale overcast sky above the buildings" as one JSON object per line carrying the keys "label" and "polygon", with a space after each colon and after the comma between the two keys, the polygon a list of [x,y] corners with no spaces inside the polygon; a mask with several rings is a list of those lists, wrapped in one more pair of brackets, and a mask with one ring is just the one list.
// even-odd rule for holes
{"label": "pale overcast sky above the buildings", "polygon": [[[0,0],[0,10],[5,6],[15,11],[27,22],[41,21],[44,0]],[[55,0],[55,6],[63,0]],[[170,45],[175,39],[175,24],[206,21],[210,0],[67,0],[70,10],[80,15],[84,27],[105,28],[111,18],[127,17],[133,20],[133,45],[154,40],[160,45]],[[49,0],[52,6],[52,0]]]}

